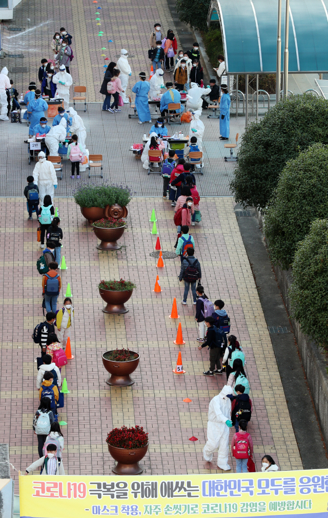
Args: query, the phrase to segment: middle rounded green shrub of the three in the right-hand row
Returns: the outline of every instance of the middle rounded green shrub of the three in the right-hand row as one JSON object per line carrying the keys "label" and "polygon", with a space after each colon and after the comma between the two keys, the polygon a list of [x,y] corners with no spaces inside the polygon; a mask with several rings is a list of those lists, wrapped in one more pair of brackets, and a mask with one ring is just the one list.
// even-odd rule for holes
{"label": "middle rounded green shrub of the three in the right-hand row", "polygon": [[328,146],[315,144],[287,162],[265,212],[264,234],[272,261],[288,269],[311,222],[327,216]]}

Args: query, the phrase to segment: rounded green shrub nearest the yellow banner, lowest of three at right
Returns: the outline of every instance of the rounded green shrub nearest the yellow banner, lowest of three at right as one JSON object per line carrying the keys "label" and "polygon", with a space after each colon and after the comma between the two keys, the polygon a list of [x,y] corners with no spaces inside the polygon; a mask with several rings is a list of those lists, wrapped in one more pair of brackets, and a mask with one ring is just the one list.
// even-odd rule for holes
{"label": "rounded green shrub nearest the yellow banner, lowest of three at right", "polygon": [[299,243],[293,262],[293,284],[289,290],[292,317],[303,333],[328,349],[328,221],[311,223],[310,232]]}

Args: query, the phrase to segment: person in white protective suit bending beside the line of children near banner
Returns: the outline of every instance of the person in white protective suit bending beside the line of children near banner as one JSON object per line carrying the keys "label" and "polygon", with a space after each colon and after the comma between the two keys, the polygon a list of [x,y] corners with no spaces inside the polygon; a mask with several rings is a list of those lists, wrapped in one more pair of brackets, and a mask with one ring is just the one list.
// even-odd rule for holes
{"label": "person in white protective suit bending beside the line of children near banner", "polygon": [[231,401],[227,394],[232,394],[232,388],[225,385],[221,392],[210,401],[208,406],[207,442],[203,449],[205,461],[211,462],[213,452],[218,449],[217,465],[224,471],[228,471],[229,454],[229,428],[232,427],[230,419]]}

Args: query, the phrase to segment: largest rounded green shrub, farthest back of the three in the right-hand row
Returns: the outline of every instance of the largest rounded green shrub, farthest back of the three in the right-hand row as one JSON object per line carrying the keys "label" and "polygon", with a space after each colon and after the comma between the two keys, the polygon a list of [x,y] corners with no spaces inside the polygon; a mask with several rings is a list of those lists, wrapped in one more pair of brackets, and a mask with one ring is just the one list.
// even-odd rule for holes
{"label": "largest rounded green shrub, farthest back of the three in the right-hand row", "polygon": [[236,202],[265,209],[288,160],[316,142],[328,143],[328,103],[295,95],[271,108],[242,137],[230,189]]}

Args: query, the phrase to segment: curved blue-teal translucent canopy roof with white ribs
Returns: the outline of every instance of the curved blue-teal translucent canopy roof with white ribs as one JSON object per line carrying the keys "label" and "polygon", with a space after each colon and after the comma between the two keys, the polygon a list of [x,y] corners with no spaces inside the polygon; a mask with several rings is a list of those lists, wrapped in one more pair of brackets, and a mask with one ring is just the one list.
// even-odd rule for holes
{"label": "curved blue-teal translucent canopy roof with white ribs", "polygon": [[[281,7],[284,64],[285,2]],[[275,73],[278,0],[212,0],[207,23],[219,21],[227,72]],[[290,0],[289,71],[328,71],[328,0]]]}

